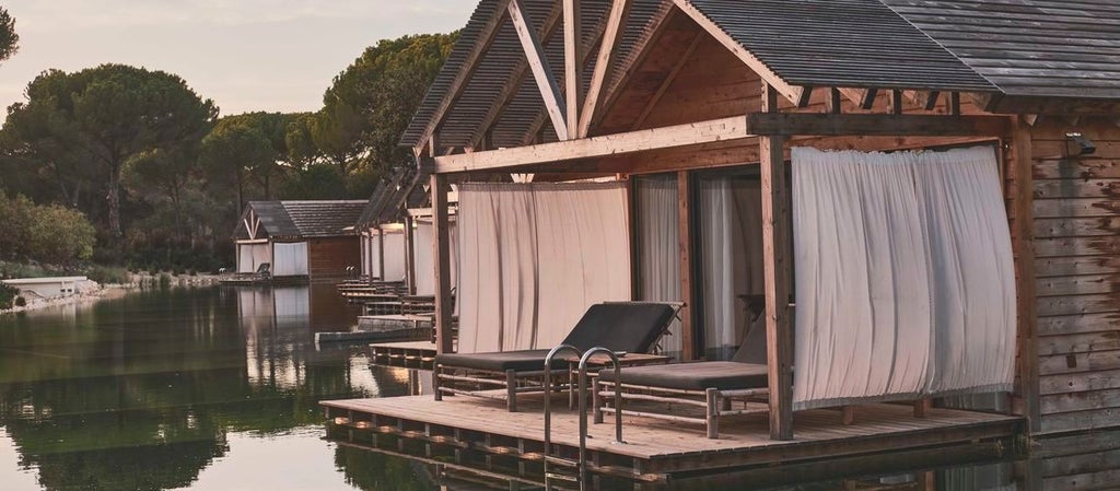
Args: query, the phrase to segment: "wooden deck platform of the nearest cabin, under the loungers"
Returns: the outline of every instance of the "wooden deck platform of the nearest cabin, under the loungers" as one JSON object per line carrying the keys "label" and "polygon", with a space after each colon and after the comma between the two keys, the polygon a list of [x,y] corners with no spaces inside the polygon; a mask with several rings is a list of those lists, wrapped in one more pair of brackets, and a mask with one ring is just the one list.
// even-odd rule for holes
{"label": "wooden deck platform of the nearest cabin, under the loungers", "polygon": [[[553,417],[552,441],[560,454],[573,457],[579,439],[579,419],[567,410],[564,401]],[[476,398],[449,397],[435,401],[430,395],[386,399],[325,401],[328,424],[348,430],[368,432],[374,446],[377,435],[394,435],[403,441],[422,442],[424,455],[432,457],[441,448],[447,458],[459,458],[465,450],[491,457],[513,458],[522,469],[543,458],[543,418],[540,396],[524,400],[521,413],[507,413],[503,405]],[[566,400],[566,399],[564,399]],[[612,443],[614,426],[591,425],[588,438],[588,469],[594,474],[623,476],[641,482],[666,482],[674,474],[728,472],[750,466],[795,464],[822,458],[850,457],[917,448],[962,450],[982,446],[1002,453],[1012,448],[1020,429],[1016,417],[951,409],[932,409],[925,418],[915,418],[908,406],[868,405],[856,408],[856,421],[841,424],[838,410],[797,413],[795,439],[768,438],[765,415],[728,419],[720,423],[720,439],[704,437],[703,428],[666,425],[640,417],[624,419],[626,444]],[[358,435],[360,437],[361,435]],[[1001,455],[991,455],[992,457]]]}

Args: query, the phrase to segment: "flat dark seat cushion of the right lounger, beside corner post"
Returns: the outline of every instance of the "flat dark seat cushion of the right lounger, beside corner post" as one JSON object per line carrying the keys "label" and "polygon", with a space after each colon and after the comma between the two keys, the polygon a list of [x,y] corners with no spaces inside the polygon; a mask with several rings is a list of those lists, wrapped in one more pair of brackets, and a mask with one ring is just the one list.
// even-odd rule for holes
{"label": "flat dark seat cushion of the right lounger, beside corner post", "polygon": [[[614,381],[614,370],[599,372],[603,380]],[[766,365],[734,361],[698,361],[692,363],[627,367],[622,370],[623,383],[684,390],[734,390],[766,387]]]}

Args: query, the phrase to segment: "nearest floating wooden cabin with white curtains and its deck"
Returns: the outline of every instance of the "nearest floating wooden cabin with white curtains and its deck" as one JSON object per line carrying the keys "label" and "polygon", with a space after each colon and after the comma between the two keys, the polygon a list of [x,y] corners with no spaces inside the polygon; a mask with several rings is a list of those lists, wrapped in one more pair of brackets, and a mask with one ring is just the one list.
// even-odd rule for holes
{"label": "nearest floating wooden cabin with white curtains and its deck", "polygon": [[[592,425],[590,471],[650,482],[1118,426],[1117,33],[1092,1],[482,0],[403,137],[435,191],[436,349],[455,346],[452,288],[461,352],[551,348],[551,317],[610,299],[684,303],[663,345],[681,361],[764,340],[768,410],[726,437],[634,417],[609,445]],[[533,183],[493,184],[511,174]],[[532,226],[503,222],[517,203]],[[624,247],[525,232],[566,216],[549,238]],[[587,281],[544,280],[570,274]],[[905,367],[921,380],[894,387]],[[542,460],[539,410],[325,405],[429,452]],[[553,421],[561,453],[573,418]]]}

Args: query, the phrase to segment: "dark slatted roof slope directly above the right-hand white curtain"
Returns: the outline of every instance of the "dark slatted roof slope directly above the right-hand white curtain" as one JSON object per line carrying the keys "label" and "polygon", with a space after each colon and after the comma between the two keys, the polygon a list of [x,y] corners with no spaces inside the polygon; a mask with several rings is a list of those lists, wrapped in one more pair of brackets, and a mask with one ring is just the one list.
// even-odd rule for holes
{"label": "dark slatted roof slope directly above the right-hand white curtain", "polygon": [[879,0],[685,0],[791,85],[995,86]]}

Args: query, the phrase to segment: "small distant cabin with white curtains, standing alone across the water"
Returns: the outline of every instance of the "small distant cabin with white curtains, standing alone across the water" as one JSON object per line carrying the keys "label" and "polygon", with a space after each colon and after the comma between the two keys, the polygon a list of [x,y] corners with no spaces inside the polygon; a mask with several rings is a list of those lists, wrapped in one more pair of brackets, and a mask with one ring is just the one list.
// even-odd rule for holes
{"label": "small distant cabin with white curtains, standing alone across the water", "polygon": [[273,278],[340,278],[357,266],[353,232],[364,201],[254,201],[234,232],[237,272],[269,265]]}

